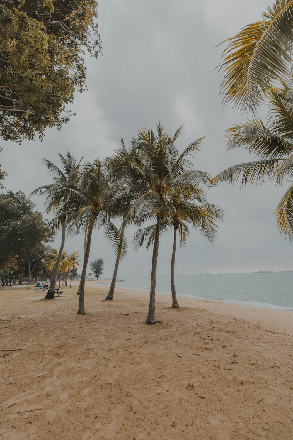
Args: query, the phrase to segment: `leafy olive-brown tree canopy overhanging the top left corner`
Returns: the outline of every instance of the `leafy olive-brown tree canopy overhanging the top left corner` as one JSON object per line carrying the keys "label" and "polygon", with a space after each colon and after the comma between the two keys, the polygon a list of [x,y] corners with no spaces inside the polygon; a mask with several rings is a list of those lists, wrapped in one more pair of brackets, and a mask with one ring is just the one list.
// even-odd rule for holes
{"label": "leafy olive-brown tree canopy overhanging the top left corner", "polygon": [[101,50],[98,1],[0,0],[0,10],[0,136],[42,138],[86,88],[83,55]]}

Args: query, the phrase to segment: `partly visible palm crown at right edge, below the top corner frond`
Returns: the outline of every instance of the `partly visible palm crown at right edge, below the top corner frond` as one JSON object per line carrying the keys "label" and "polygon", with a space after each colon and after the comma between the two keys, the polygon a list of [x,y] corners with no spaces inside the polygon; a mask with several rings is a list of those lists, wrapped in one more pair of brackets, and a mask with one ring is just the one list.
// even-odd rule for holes
{"label": "partly visible palm crown at right edge, below the top corner frond", "polygon": [[234,165],[215,176],[211,185],[235,183],[242,187],[262,183],[265,179],[290,186],[275,209],[280,232],[293,239],[293,78],[282,88],[274,88],[268,94],[270,123],[265,127],[254,118],[227,131],[228,150],[243,148],[258,160]]}

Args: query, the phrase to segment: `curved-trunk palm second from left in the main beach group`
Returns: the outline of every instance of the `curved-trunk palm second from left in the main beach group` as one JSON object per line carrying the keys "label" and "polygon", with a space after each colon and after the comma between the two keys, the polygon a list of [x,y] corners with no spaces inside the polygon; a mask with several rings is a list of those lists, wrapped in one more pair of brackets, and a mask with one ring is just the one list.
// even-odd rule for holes
{"label": "curved-trunk palm second from left in the main beach group", "polygon": [[66,191],[68,195],[64,205],[60,207],[55,218],[47,223],[47,228],[54,232],[65,222],[69,234],[80,234],[87,229],[87,247],[80,278],[77,312],[84,315],[84,283],[94,227],[104,229],[105,238],[112,242],[116,252],[125,254],[127,250],[125,239],[111,221],[113,202],[124,191],[124,186],[121,183],[113,185],[108,179],[107,169],[96,159],[83,166],[79,184],[73,187],[68,185]]}

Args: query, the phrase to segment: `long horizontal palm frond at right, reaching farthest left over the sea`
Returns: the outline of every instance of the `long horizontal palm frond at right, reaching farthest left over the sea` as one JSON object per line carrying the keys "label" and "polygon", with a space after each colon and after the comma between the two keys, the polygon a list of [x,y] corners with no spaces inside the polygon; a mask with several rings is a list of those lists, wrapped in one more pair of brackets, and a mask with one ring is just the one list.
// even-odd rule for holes
{"label": "long horizontal palm frond at right, reaching farthest left over the sea", "polygon": [[239,178],[241,179],[240,184],[242,187],[247,187],[254,183],[261,184],[266,178],[271,178],[274,175],[278,164],[279,159],[264,159],[262,161],[233,165],[213,177],[210,181],[210,186],[215,186],[218,183],[237,183]]}

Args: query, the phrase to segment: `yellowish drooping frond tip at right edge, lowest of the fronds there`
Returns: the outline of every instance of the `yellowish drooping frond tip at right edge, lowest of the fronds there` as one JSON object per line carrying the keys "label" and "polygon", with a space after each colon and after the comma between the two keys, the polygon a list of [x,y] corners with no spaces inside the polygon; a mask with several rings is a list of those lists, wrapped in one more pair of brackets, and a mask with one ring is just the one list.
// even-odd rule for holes
{"label": "yellowish drooping frond tip at right edge, lowest of the fronds there", "polygon": [[277,224],[282,235],[293,240],[293,185],[286,191],[275,209]]}

